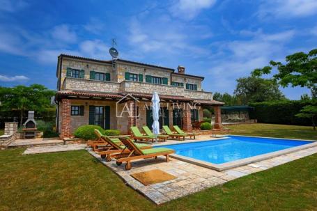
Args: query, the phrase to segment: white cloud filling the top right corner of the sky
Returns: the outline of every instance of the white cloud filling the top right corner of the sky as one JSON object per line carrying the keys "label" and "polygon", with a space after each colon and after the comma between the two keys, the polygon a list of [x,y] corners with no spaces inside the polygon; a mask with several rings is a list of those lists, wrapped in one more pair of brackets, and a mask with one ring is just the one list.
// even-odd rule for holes
{"label": "white cloud filling the top right corner of the sky", "polygon": [[317,14],[316,0],[270,0],[263,1],[258,10],[262,19],[268,17],[307,17]]}

